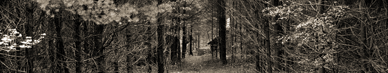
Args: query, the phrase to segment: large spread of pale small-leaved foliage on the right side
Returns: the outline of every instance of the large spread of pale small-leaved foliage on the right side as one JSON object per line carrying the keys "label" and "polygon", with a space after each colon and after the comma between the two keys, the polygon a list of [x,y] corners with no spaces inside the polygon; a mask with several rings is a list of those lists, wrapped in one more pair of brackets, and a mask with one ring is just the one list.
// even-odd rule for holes
{"label": "large spread of pale small-leaved foliage on the right side", "polygon": [[[285,45],[289,57],[293,57],[299,64],[305,64],[304,68],[310,71],[324,64],[326,68],[336,65],[334,54],[338,53],[336,40],[336,27],[333,24],[336,19],[346,15],[344,6],[330,7],[326,13],[311,14],[314,10],[306,9],[301,3],[291,2],[290,5],[266,8],[266,16],[280,16],[276,21],[293,20],[297,24],[287,28],[290,31],[285,36],[276,37],[276,43]],[[310,13],[310,14],[309,14]],[[274,24],[274,23],[273,23]],[[326,64],[329,63],[329,64]]]}

